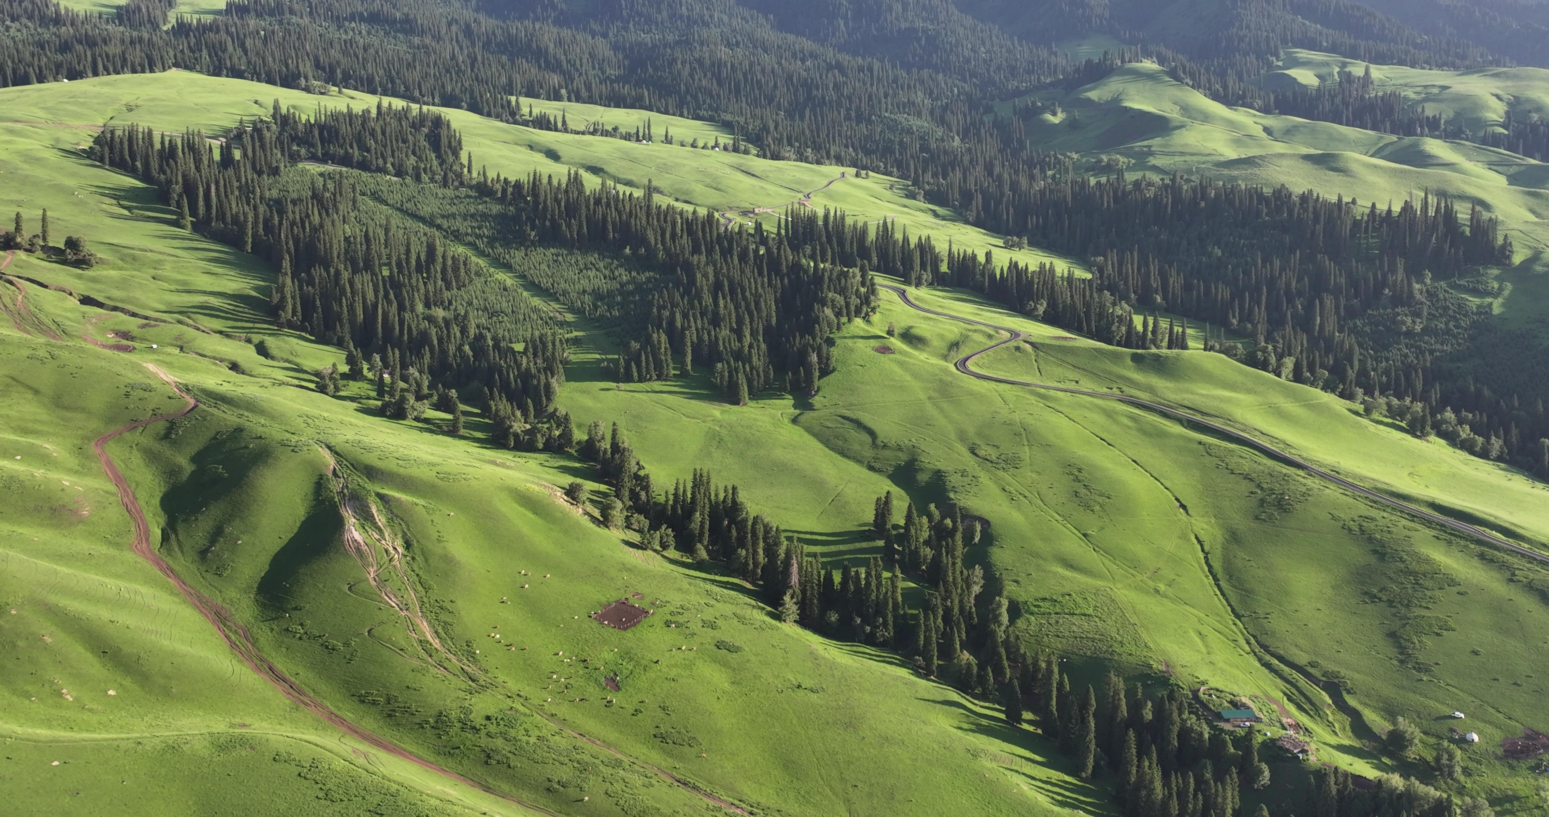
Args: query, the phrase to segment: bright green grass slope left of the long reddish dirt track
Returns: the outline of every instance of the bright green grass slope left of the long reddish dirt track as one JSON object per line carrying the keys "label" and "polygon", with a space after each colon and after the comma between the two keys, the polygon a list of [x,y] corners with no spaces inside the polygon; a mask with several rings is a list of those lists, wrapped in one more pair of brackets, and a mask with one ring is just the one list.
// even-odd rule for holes
{"label": "bright green grass slope left of the long reddish dirt track", "polygon": [[[28,302],[60,332],[85,329],[60,295],[34,287]],[[499,803],[441,778],[432,784],[291,705],[129,552],[129,519],[90,442],[181,405],[144,366],[84,341],[22,336],[3,321],[0,372],[8,809],[279,815],[387,803],[479,814]],[[115,454],[160,439],[153,426]],[[254,801],[254,789],[265,797]]]}

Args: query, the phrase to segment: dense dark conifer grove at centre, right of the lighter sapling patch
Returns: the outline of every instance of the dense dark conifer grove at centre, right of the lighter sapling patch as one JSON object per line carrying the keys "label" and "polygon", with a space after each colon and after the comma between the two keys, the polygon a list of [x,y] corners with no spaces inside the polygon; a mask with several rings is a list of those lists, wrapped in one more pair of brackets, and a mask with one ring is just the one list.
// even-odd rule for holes
{"label": "dense dark conifer grove at centre, right of the lighter sapling patch", "polygon": [[[733,403],[776,384],[813,394],[832,371],[827,338],[875,312],[875,285],[830,259],[801,231],[725,229],[714,212],[658,203],[613,184],[587,189],[564,180],[486,177],[474,189],[508,208],[508,229],[528,243],[620,253],[647,265],[661,287],[643,291],[640,335],[618,360],[621,381],[711,372]],[[810,217],[807,220],[813,220]],[[824,219],[827,220],[827,219]],[[815,222],[813,223],[821,223]]]}

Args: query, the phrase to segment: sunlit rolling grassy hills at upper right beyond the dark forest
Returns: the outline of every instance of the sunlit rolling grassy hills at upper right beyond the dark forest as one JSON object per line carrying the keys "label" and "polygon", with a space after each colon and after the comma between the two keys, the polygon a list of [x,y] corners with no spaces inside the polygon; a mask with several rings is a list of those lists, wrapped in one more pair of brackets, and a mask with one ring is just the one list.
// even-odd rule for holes
{"label": "sunlit rolling grassy hills at upper right beyond the dark forest", "polygon": [[[1297,51],[1283,62],[1287,71],[1309,82],[1341,64],[1326,54]],[[1530,112],[1549,99],[1549,71],[1543,70],[1385,71],[1389,68],[1374,67],[1374,76],[1391,87],[1434,93],[1434,101],[1417,99],[1451,105],[1448,110],[1481,116],[1481,122],[1499,113],[1492,104]],[[1503,233],[1516,245],[1518,262],[1509,270],[1487,271],[1503,284],[1493,321],[1549,344],[1549,324],[1543,321],[1549,302],[1549,164],[1465,141],[1399,138],[1227,107],[1152,64],[1125,65],[1090,85],[1036,96],[1061,105],[1060,116],[1044,113],[1032,124],[1036,144],[1087,158],[1123,158],[1132,163],[1129,175],[1180,172],[1270,188],[1284,184],[1379,208],[1428,192],[1498,215]]]}

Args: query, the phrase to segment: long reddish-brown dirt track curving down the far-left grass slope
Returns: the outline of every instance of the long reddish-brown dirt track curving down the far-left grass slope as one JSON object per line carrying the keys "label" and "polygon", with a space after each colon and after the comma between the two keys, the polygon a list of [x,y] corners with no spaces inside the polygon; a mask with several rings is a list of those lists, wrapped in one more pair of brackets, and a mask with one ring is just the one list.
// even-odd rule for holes
{"label": "long reddish-brown dirt track curving down the far-left grass slope", "polygon": [[414,763],[441,777],[446,777],[448,780],[455,780],[465,786],[499,797],[508,803],[516,803],[517,806],[536,811],[539,814],[559,817],[559,814],[555,811],[548,811],[542,806],[517,800],[516,797],[497,792],[482,783],[468,780],[466,777],[462,777],[428,760],[415,757],[412,752],[400,747],[398,744],[383,736],[378,736],[359,726],[355,726],[342,715],[328,708],[327,704],[313,698],[296,681],[287,676],[279,667],[276,667],[266,657],[263,657],[259,648],[252,643],[252,637],[248,633],[248,628],[242,626],[225,606],[209,598],[208,595],[195,591],[186,581],[183,581],[181,577],[178,577],[177,571],[173,571],[172,566],[167,564],[167,560],[161,558],[161,553],[158,553],[155,547],[150,546],[150,526],[146,522],[146,513],[144,510],[141,510],[139,501],[135,498],[135,491],[129,487],[129,481],[124,479],[124,474],[118,470],[118,465],[113,462],[113,457],[110,457],[107,453],[107,443],[113,442],[115,439],[121,437],[129,431],[135,431],[138,428],[144,428],[152,423],[175,420],[198,408],[198,402],[194,400],[194,397],[191,397],[186,391],[183,391],[183,388],[178,386],[178,383],[172,380],[170,375],[167,375],[164,371],[150,363],[147,363],[146,367],[155,372],[156,377],[166,381],[166,384],[170,386],[172,391],[175,391],[178,397],[183,398],[184,402],[183,409],[175,411],[172,414],[158,414],[155,417],[146,417],[144,420],[135,420],[133,423],[108,431],[107,434],[102,434],[101,437],[91,442],[91,450],[96,451],[98,460],[102,464],[102,470],[107,473],[107,477],[113,482],[113,487],[118,488],[118,499],[119,502],[124,504],[124,512],[129,513],[129,518],[133,522],[135,539],[130,544],[130,547],[135,550],[135,553],[149,561],[158,572],[161,572],[161,575],[167,577],[167,581],[172,581],[172,584],[178,589],[178,592],[183,594],[183,598],[186,598],[189,605],[192,605],[194,609],[197,609],[204,617],[204,620],[208,620],[211,626],[215,628],[215,633],[218,633],[220,637],[226,642],[226,646],[229,646],[234,653],[237,653],[248,664],[248,667],[252,668],[254,673],[259,673],[259,676],[262,676],[265,681],[268,681],[277,690],[280,690],[280,693],[285,695],[285,698],[290,698],[302,708],[310,710],[313,715],[333,724],[341,732],[369,746],[373,746],[389,755],[403,758],[409,763]]}

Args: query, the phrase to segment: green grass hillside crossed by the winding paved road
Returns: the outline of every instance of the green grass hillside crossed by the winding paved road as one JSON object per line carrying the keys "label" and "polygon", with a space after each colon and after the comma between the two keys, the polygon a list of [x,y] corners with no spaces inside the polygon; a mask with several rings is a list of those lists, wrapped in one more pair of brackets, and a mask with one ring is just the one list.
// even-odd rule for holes
{"label": "green grass hillside crossed by the winding paved road", "polygon": [[[946,312],[976,312],[960,293],[922,299]],[[1036,326],[1005,313],[991,319]],[[903,343],[877,336],[884,321],[895,322]],[[1281,696],[1301,710],[1298,718],[1310,716],[1348,738],[1369,738],[1368,727],[1382,730],[1400,715],[1424,719],[1441,736],[1445,727],[1431,721],[1433,713],[1464,704],[1470,716],[1478,710],[1490,719],[1487,729],[1496,736],[1544,718],[1544,684],[1535,677],[1532,651],[1510,646],[1543,645],[1549,637],[1549,600],[1534,589],[1549,586],[1540,566],[1410,524],[1140,409],[970,381],[948,364],[959,355],[951,346],[965,332],[960,324],[889,304],[869,329],[855,327],[841,340],[840,372],[824,381],[815,411],[798,425],[855,462],[915,481],[920,493],[948,487],[988,518],[994,543],[987,558],[1030,612],[1021,622],[1030,639],[1077,654],[1149,662],[1191,684],[1241,684],[1244,693]],[[987,332],[967,333],[965,349],[991,340]],[[1123,381],[1126,394],[1140,394],[1139,384],[1154,377],[1146,358],[1176,360],[1188,367],[1177,374],[1188,377],[1151,381],[1163,400],[1163,383],[1183,381],[1202,403],[1213,395],[1208,414],[1276,405],[1278,414],[1253,417],[1278,415],[1278,423],[1266,423],[1270,434],[1284,429],[1286,437],[1321,442],[1332,425],[1318,453],[1335,459],[1340,446],[1354,446],[1335,462],[1386,451],[1399,473],[1405,457],[1422,457],[1408,465],[1416,470],[1450,465],[1464,496],[1487,501],[1492,487],[1515,491],[1496,496],[1493,507],[1518,512],[1527,530],[1544,529],[1540,485],[1459,453],[1417,442],[1410,450],[1394,433],[1348,411],[1349,420],[1338,423],[1318,408],[1337,402],[1314,389],[1262,388],[1235,364],[1213,367],[1214,355],[1204,352],[1135,355],[1052,340],[1058,330],[1047,327],[1033,333],[1036,346],[998,352],[1002,360],[987,369],[1098,389]],[[875,353],[878,341],[895,353]],[[1070,358],[1081,364],[1069,366]],[[1363,431],[1374,440],[1362,443]],[[1414,578],[1406,571],[1444,588],[1427,611],[1434,619],[1399,612],[1393,588]],[[1238,620],[1252,642],[1241,639]],[[1422,646],[1403,653],[1399,636],[1410,625],[1428,629]],[[1422,676],[1410,668],[1416,660],[1434,667]],[[1287,679],[1284,665],[1349,679],[1348,698],[1360,713],[1349,732],[1341,712],[1323,708],[1320,693]],[[1346,744],[1349,760],[1371,760],[1354,743]]]}

